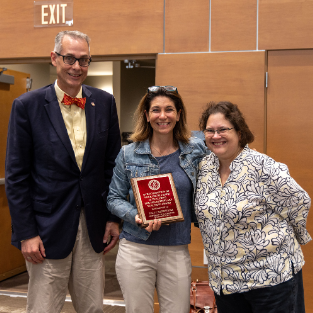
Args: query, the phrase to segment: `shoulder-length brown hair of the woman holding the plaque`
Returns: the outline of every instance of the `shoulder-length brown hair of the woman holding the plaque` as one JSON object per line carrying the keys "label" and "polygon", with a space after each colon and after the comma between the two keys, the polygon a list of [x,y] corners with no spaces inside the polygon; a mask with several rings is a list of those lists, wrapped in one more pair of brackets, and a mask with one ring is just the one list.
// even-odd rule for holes
{"label": "shoulder-length brown hair of the woman holding the plaque", "polygon": [[173,133],[174,140],[188,143],[190,138],[190,131],[187,128],[186,109],[180,94],[176,92],[170,92],[160,87],[156,92],[147,92],[140,100],[139,105],[134,114],[135,130],[129,137],[131,141],[144,141],[148,138],[152,138],[153,128],[148,123],[145,111],[149,112],[150,104],[156,97],[167,97],[171,99],[177,112],[180,111],[179,121],[176,123]]}

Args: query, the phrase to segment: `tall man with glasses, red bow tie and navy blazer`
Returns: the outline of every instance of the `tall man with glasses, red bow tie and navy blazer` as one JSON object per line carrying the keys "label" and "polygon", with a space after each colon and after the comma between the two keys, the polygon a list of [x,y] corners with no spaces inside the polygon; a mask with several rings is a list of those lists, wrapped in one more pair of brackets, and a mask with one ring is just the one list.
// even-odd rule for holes
{"label": "tall man with glasses, red bow tie and navy blazer", "polygon": [[87,35],[60,32],[51,61],[55,84],[12,106],[5,180],[12,244],[27,261],[27,312],[60,312],[67,288],[77,312],[102,312],[102,255],[116,244],[120,222],[106,208],[120,149],[115,100],[82,85]]}

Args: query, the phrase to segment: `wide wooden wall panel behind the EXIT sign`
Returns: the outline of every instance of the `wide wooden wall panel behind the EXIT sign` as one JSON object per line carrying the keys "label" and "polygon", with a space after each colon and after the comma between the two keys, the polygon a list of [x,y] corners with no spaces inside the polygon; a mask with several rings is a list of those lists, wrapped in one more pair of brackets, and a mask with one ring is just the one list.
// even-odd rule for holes
{"label": "wide wooden wall panel behind the EXIT sign", "polygon": [[34,2],[1,5],[0,57],[46,57],[62,30],[80,30],[91,39],[92,55],[163,52],[163,1],[76,0],[74,26],[34,28]]}

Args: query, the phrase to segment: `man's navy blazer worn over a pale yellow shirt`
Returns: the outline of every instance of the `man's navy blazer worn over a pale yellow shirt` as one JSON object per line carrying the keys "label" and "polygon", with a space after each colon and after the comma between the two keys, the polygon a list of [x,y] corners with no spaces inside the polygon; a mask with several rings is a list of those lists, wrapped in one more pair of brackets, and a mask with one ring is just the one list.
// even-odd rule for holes
{"label": "man's navy blazer worn over a pale yellow shirt", "polygon": [[81,171],[64,124],[54,85],[15,99],[6,151],[5,185],[12,218],[12,244],[39,235],[47,258],[72,251],[81,207],[90,242],[103,251],[107,221],[119,222],[106,197],[120,150],[115,100],[82,86],[86,97],[87,142]]}

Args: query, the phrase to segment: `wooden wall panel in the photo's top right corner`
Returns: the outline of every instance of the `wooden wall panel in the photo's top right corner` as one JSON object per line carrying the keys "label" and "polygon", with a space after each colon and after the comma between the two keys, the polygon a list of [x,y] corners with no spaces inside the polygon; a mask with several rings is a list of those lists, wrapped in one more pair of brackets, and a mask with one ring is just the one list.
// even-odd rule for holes
{"label": "wooden wall panel in the photo's top right corner", "polygon": [[313,48],[312,0],[259,0],[259,49]]}

